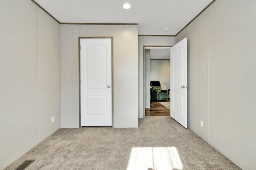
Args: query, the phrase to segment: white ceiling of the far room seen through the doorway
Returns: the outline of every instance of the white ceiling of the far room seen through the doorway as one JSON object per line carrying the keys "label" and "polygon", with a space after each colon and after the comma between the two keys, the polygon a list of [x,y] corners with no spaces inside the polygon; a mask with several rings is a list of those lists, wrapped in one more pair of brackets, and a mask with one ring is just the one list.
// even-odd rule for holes
{"label": "white ceiling of the far room seen through the doorway", "polygon": [[150,59],[170,59],[170,48],[150,49]]}

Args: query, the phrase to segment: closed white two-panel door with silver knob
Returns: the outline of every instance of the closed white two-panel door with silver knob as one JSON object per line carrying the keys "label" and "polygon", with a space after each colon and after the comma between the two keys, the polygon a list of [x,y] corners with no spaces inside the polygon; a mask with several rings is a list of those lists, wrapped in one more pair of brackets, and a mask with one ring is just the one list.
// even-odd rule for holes
{"label": "closed white two-panel door with silver knob", "polygon": [[112,125],[112,39],[80,39],[81,126]]}

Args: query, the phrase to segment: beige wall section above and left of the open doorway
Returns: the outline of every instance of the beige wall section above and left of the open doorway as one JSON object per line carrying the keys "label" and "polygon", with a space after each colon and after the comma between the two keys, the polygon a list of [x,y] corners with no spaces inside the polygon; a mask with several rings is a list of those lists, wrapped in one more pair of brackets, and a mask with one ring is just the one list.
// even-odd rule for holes
{"label": "beige wall section above and left of the open doorway", "polygon": [[[144,87],[150,87],[150,81],[145,82],[146,84],[144,85],[144,56],[143,56],[143,46],[144,45],[162,45],[162,46],[172,46],[175,44],[175,37],[156,37],[156,36],[139,36],[139,59],[138,59],[138,76],[139,76],[139,117],[142,118],[144,117],[145,109],[145,95],[150,96],[150,90],[146,91],[148,94],[144,94]],[[145,63],[149,63],[149,61],[145,61]],[[148,68],[146,68],[145,65],[145,74],[150,71],[150,65]],[[148,99],[148,97],[147,97]],[[148,99],[150,100],[150,99]]]}

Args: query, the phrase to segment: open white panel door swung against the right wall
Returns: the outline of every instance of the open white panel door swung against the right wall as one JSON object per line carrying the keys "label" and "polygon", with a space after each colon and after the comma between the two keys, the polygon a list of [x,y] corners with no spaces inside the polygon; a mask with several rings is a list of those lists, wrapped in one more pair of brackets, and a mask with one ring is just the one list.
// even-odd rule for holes
{"label": "open white panel door swung against the right wall", "polygon": [[185,128],[187,123],[187,38],[171,48],[171,117]]}

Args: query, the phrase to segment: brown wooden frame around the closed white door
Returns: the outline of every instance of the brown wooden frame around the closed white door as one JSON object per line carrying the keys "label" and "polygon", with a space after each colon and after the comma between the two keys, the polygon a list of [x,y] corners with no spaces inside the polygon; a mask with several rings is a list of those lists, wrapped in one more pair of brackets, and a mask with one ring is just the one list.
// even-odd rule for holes
{"label": "brown wooden frame around the closed white door", "polygon": [[78,37],[78,70],[79,70],[79,128],[81,128],[81,75],[80,75],[80,39],[84,39],[84,38],[88,38],[88,39],[92,39],[92,38],[99,38],[99,39],[103,39],[103,38],[110,38],[111,39],[111,81],[112,81],[112,113],[111,113],[111,117],[112,117],[112,127],[114,127],[114,82],[113,82],[113,37]]}

